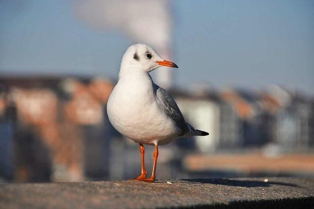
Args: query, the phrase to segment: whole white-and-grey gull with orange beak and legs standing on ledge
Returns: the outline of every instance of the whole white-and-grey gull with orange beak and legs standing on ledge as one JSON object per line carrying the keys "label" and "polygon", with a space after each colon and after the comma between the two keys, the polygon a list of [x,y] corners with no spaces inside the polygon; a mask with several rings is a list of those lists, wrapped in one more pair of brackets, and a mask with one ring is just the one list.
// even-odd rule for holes
{"label": "whole white-and-grey gull with orange beak and legs standing on ledge", "polygon": [[[173,62],[162,59],[151,46],[130,46],[123,55],[118,82],[107,102],[107,114],[113,127],[139,143],[142,170],[136,180],[146,182],[155,181],[159,145],[178,138],[209,135],[185,122],[174,98],[153,82],[149,72],[161,66],[178,68]],[[150,178],[146,178],[143,144],[155,146]]]}

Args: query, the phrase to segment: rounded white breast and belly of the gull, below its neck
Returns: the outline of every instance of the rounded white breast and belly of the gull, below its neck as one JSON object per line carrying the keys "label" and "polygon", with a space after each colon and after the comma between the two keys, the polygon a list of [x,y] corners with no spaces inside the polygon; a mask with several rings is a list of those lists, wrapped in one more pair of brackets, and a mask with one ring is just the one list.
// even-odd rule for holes
{"label": "rounded white breast and belly of the gull, below its neck", "polygon": [[119,79],[109,97],[107,113],[117,131],[138,143],[162,145],[177,138],[173,120],[158,108],[147,73]]}

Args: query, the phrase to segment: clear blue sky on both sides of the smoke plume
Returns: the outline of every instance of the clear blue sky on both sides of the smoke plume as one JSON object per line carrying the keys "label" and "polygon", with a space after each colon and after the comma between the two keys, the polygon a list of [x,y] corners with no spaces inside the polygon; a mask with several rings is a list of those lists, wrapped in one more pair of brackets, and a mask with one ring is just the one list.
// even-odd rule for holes
{"label": "clear blue sky on both sides of the smoke plume", "polygon": [[[0,71],[116,78],[132,40],[80,22],[70,2],[0,0]],[[172,7],[176,86],[279,84],[314,95],[314,1],[175,0]]]}

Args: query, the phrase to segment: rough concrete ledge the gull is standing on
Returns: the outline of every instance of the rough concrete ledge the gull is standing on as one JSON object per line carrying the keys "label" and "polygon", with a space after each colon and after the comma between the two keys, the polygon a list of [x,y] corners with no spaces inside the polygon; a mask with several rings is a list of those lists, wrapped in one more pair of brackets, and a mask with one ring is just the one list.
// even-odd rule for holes
{"label": "rough concrete ledge the gull is standing on", "polygon": [[243,178],[7,184],[0,185],[0,208],[313,209],[314,180]]}

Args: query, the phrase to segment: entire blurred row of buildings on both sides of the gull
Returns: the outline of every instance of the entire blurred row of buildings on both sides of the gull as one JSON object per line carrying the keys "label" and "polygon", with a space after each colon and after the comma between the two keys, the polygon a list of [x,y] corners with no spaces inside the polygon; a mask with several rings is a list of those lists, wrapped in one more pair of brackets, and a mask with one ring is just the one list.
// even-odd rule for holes
{"label": "entire blurred row of buildings on both sides of the gull", "polygon": [[[112,89],[113,84],[102,78],[0,77],[0,181],[136,176],[138,146],[123,139],[106,116]],[[183,162],[191,153],[253,148],[276,154],[314,148],[314,102],[307,96],[278,86],[260,92],[171,93],[186,121],[209,136],[178,139],[161,147],[161,178],[189,178]],[[147,146],[148,168],[153,162],[149,150]]]}

